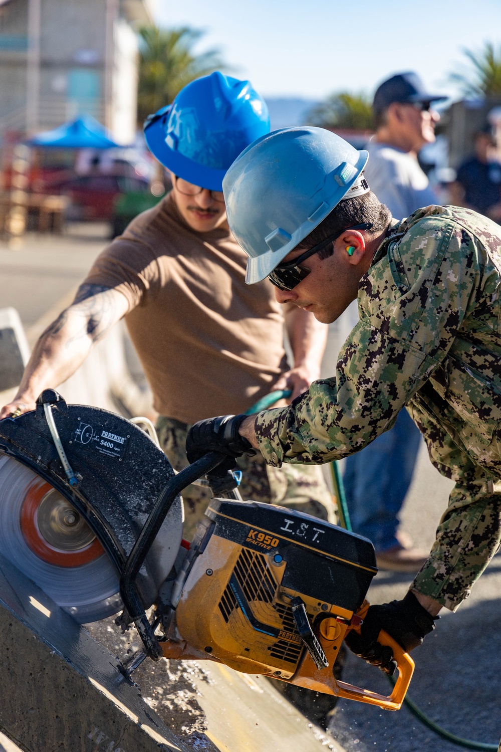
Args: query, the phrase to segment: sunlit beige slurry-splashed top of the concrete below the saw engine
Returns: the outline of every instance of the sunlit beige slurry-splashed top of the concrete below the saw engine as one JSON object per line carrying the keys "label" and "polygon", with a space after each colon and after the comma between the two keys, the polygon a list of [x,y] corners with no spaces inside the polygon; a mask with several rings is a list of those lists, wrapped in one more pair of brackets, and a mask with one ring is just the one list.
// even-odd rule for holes
{"label": "sunlit beige slurry-splashed top of the concrete below the saw engine", "polygon": [[[113,617],[86,629],[123,660],[140,648],[137,632],[121,635]],[[213,661],[145,660],[132,678],[158,717],[193,749],[205,750],[208,738],[220,752],[343,752],[262,676]]]}

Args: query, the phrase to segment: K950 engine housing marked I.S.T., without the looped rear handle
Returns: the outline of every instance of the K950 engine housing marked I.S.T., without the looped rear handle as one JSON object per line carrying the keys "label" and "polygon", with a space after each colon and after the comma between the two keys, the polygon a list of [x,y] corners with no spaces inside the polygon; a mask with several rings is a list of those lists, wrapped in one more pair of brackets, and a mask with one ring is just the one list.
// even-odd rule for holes
{"label": "K950 engine housing marked I.S.T., without the looped rear handle", "polygon": [[377,572],[373,544],[257,502],[213,499],[206,514],[176,611],[186,642],[237,671],[290,679],[305,650],[292,609],[300,599],[330,652],[339,650]]}

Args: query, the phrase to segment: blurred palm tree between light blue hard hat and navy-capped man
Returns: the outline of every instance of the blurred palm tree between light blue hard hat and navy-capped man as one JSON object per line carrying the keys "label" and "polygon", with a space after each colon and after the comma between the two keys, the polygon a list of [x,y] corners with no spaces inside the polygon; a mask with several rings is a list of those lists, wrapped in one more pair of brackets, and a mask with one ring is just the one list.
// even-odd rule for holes
{"label": "blurred palm tree between light blue hard hat and navy-capped man", "polygon": [[337,92],[316,105],[307,115],[308,122],[322,128],[373,130],[371,99],[365,92]]}

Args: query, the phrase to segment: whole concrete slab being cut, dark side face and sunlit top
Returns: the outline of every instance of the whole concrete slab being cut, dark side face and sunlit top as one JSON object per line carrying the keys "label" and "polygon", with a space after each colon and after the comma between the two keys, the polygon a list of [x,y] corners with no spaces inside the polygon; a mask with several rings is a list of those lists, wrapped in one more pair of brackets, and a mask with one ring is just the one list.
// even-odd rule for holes
{"label": "whole concrete slab being cut, dark side face and sunlit top", "polygon": [[[90,626],[115,644],[110,623]],[[162,660],[145,661],[133,684],[104,644],[2,556],[0,651],[0,730],[26,752],[342,750],[262,677]]]}

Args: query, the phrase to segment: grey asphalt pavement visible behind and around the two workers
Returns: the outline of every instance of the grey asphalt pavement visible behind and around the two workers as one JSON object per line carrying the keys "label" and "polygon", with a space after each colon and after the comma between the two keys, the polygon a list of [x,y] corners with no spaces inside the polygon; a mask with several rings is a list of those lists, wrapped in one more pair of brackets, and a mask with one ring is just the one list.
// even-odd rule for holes
{"label": "grey asphalt pavement visible behind and around the two workers", "polygon": [[[105,228],[89,227],[62,237],[28,235],[17,248],[0,244],[0,308],[17,308],[25,326],[34,331],[36,321],[47,312],[56,313],[59,301],[71,296],[106,242]],[[333,373],[340,341],[348,329],[346,321],[330,326],[324,375]],[[430,547],[433,542],[450,488],[451,482],[427,459],[423,444],[402,514],[403,529],[419,547]],[[401,598],[411,580],[407,575],[381,572],[368,599],[381,603]],[[459,611],[446,611],[433,635],[412,653],[416,670],[409,690],[416,704],[449,731],[492,744],[501,737],[500,601],[501,556],[495,556]],[[391,692],[388,680],[355,656],[349,656],[343,678]],[[434,735],[405,708],[389,713],[347,700],[339,702],[330,732],[346,752],[452,752],[460,748]]]}

